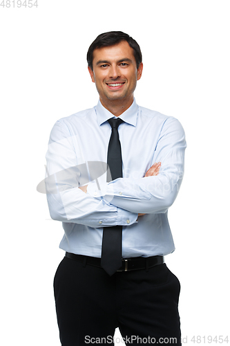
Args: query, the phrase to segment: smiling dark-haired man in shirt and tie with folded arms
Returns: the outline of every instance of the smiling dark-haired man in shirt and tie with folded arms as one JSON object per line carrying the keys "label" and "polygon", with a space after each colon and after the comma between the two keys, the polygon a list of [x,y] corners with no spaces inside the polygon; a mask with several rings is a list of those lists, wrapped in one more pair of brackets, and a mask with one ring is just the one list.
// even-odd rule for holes
{"label": "smiling dark-haired man in shirt and tie with folded arms", "polygon": [[180,345],[180,282],[163,256],[175,249],[167,210],[184,172],[184,131],[137,106],[134,39],[99,35],[87,60],[99,102],[57,121],[46,155],[57,189],[47,184],[50,215],[65,232],[54,282],[61,345],[113,345],[116,327],[126,345]]}

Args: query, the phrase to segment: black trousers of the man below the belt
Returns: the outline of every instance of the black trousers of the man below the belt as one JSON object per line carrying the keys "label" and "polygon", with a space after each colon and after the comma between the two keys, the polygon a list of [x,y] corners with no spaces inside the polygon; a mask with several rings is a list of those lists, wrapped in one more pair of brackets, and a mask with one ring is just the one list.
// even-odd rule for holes
{"label": "black trousers of the man below the belt", "polygon": [[62,346],[114,345],[116,327],[121,345],[181,345],[180,282],[166,264],[110,277],[64,257],[54,289]]}

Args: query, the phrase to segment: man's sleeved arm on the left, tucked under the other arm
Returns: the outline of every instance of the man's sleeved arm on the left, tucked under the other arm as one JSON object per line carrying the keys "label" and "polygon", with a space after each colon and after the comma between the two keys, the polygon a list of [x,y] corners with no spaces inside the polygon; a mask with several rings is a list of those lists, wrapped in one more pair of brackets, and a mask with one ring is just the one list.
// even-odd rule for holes
{"label": "man's sleeved arm on the left, tucked under the other arm", "polygon": [[[84,224],[93,228],[131,226],[136,222],[137,213],[113,206],[104,199],[95,199],[79,188],[76,183],[79,163],[73,137],[70,136],[68,127],[62,121],[57,121],[52,128],[46,161],[47,172],[55,179],[54,190],[50,191],[47,186],[48,207],[52,219]],[[74,169],[71,170],[70,167]],[[75,175],[71,176],[69,174],[71,172]]]}

